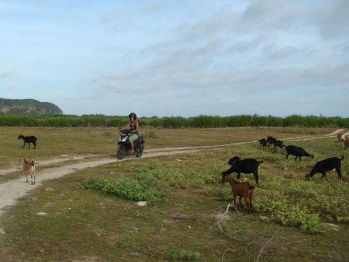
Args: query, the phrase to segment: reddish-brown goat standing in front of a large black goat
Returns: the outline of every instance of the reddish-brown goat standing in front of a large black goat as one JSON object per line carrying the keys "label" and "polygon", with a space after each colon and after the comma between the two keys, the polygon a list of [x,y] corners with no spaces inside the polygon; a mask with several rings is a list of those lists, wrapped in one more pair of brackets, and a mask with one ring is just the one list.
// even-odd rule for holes
{"label": "reddish-brown goat standing in front of a large black goat", "polygon": [[251,213],[252,209],[252,196],[253,196],[253,189],[255,187],[251,186],[251,184],[246,182],[237,182],[231,175],[225,175],[224,172],[222,173],[222,184],[224,182],[229,182],[230,186],[232,187],[232,196],[234,198],[234,205],[237,203],[237,196],[239,196],[239,202],[240,205],[242,205],[241,198],[245,198],[245,202],[247,205],[248,214]]}

